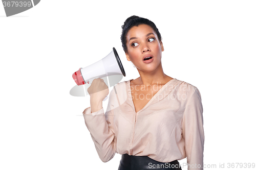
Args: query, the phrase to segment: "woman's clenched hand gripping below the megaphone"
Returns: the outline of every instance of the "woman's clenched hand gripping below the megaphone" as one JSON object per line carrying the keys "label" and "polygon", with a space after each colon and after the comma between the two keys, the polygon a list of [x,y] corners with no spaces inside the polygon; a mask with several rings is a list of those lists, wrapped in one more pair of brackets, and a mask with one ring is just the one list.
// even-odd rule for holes
{"label": "woman's clenched hand gripping below the megaphone", "polygon": [[102,102],[109,94],[109,88],[103,79],[94,79],[91,86],[87,89],[90,94],[91,102]]}

